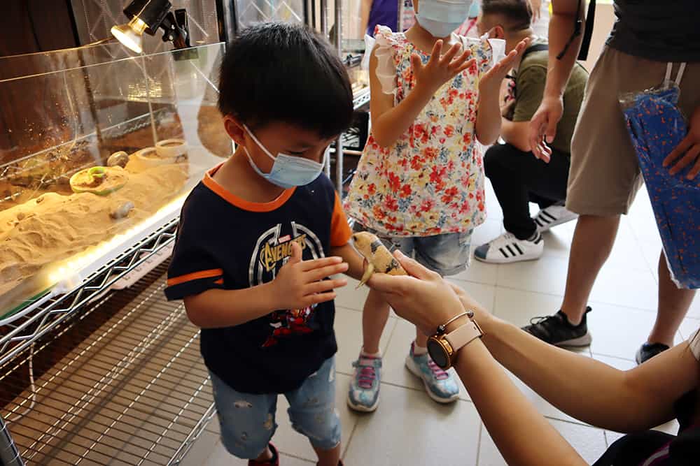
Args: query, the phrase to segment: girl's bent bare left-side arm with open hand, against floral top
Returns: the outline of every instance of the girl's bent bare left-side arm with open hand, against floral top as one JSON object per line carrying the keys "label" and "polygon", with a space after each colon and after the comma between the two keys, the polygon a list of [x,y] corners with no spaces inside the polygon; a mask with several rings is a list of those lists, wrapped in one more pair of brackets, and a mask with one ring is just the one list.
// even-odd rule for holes
{"label": "girl's bent bare left-side arm with open hand, against floral top", "polygon": [[[423,65],[420,57],[414,54],[411,63],[416,76],[416,85],[408,95],[393,106],[393,94],[385,94],[381,82],[377,78],[377,48],[370,57],[370,115],[372,115],[372,136],[381,147],[389,147],[398,140],[416,121],[419,113],[428,105],[433,94],[447,80],[454,78],[457,73],[471,66],[474,61],[468,60],[470,50],[465,50],[459,56],[461,45],[453,45],[449,51],[440,57],[442,41],[437,41],[430,54],[430,60]],[[496,95],[498,100],[498,95]],[[496,102],[498,107],[498,102]]]}

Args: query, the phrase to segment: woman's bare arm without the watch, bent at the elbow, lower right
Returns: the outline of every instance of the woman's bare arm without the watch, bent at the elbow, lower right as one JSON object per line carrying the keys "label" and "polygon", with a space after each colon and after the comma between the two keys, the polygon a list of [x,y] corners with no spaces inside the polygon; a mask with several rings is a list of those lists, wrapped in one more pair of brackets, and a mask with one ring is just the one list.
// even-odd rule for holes
{"label": "woman's bare arm without the watch, bent at the elbow, lower right", "polygon": [[673,403],[697,386],[700,365],[687,343],[629,371],[542,342],[491,316],[463,290],[493,357],[561,411],[600,428],[634,432],[673,418]]}

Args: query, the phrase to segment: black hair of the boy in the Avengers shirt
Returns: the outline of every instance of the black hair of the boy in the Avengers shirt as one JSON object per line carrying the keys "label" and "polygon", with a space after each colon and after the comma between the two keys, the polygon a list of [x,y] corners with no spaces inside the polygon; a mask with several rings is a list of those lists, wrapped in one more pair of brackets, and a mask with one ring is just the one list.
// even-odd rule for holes
{"label": "black hair of the boy in the Avengers shirt", "polygon": [[352,101],[337,52],[299,24],[266,22],[244,29],[221,64],[218,108],[251,128],[285,122],[331,138],[350,125]]}

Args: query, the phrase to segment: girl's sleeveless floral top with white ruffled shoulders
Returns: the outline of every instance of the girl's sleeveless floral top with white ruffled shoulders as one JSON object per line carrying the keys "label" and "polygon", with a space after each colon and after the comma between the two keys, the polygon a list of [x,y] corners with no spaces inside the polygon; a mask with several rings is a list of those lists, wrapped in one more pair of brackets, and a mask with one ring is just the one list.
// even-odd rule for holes
{"label": "girl's sleeveless floral top with white ruffled shoulders", "polygon": [[[387,27],[377,27],[375,37],[377,77],[398,105],[416,84],[411,54],[418,52],[423,63],[429,55]],[[430,236],[469,231],[486,218],[475,123],[479,75],[491,67],[494,52],[485,38],[462,40],[477,63],[445,83],[391,147],[367,140],[345,203],[364,226],[390,236]]]}

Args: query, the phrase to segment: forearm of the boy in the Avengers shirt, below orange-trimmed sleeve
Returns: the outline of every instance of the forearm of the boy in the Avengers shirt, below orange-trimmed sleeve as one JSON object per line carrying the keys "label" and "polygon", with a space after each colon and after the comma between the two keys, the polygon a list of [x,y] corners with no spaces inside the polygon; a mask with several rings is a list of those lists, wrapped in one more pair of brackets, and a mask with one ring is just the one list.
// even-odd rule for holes
{"label": "forearm of the boy in the Avengers shirt, below orange-trimmed sleeve", "polygon": [[185,298],[187,316],[200,328],[232,327],[280,309],[272,282],[242,290],[210,289]]}

